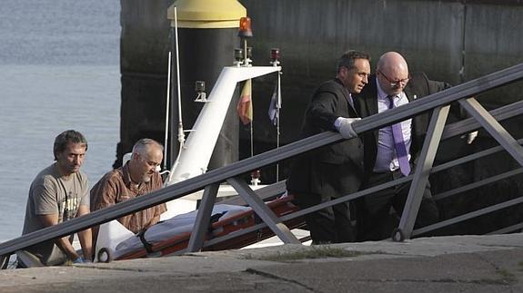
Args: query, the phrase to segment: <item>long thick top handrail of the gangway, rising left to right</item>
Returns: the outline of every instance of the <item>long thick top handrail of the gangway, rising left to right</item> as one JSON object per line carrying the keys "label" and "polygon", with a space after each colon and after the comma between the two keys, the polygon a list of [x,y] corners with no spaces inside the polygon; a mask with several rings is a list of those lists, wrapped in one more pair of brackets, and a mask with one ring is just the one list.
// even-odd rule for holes
{"label": "long thick top handrail of the gangway, rising left to right", "polygon": [[[458,84],[446,91],[431,94],[386,112],[380,112],[353,123],[355,132],[362,133],[381,128],[394,122],[403,121],[422,112],[453,103],[460,99],[483,93],[490,89],[523,79],[523,63]],[[243,161],[208,171],[205,174],[181,181],[147,196],[119,203],[104,210],[96,210],[80,218],[67,220],[43,230],[36,230],[19,238],[0,243],[0,256],[9,255],[18,249],[25,249],[50,239],[70,235],[86,228],[116,220],[137,210],[144,210],[168,200],[176,200],[187,194],[202,190],[206,186],[221,183],[243,173],[282,161],[298,154],[312,151],[327,144],[343,140],[337,132],[322,132],[298,142],[292,142],[279,149],[267,151]]]}

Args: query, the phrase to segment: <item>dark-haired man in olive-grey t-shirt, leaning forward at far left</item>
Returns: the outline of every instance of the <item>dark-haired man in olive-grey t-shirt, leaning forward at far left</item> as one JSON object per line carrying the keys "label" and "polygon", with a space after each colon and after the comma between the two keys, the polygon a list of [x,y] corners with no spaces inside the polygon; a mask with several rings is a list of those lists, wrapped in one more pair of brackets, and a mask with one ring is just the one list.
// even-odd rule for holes
{"label": "dark-haired man in olive-grey t-shirt, leaning forward at far left", "polygon": [[[29,189],[23,234],[56,225],[89,212],[87,177],[80,171],[87,142],[80,132],[66,131],[55,139],[55,163],[40,171]],[[73,235],[37,243],[17,251],[19,267],[56,266],[68,260],[91,259],[91,230],[78,232],[84,258],[72,244]],[[30,263],[28,262],[30,259]]]}

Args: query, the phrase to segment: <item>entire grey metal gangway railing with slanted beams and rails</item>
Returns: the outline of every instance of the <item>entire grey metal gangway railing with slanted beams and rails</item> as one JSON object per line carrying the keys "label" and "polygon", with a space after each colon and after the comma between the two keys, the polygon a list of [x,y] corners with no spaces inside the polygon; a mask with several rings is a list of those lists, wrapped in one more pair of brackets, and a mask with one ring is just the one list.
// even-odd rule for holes
{"label": "entire grey metal gangway railing with slanted beams and rails", "polygon": [[[294,237],[294,235],[292,235],[292,233],[290,233],[290,231],[287,229],[287,226],[283,224],[284,221],[301,217],[309,212],[324,209],[340,202],[354,200],[374,191],[395,186],[407,181],[412,181],[412,184],[409,190],[404,212],[399,222],[399,226],[393,235],[393,239],[395,240],[409,239],[413,236],[417,236],[431,230],[437,230],[441,227],[452,225],[463,220],[472,219],[494,210],[515,206],[523,202],[523,197],[520,196],[514,200],[508,200],[485,209],[476,210],[468,214],[458,216],[454,219],[444,220],[427,227],[422,227],[418,230],[413,230],[414,222],[417,216],[417,210],[421,200],[420,196],[422,195],[422,192],[419,192],[419,190],[423,190],[427,184],[428,176],[431,173],[443,171],[467,161],[478,160],[497,151],[507,151],[510,156],[518,162],[519,166],[523,166],[523,149],[519,145],[520,142],[516,141],[501,126],[501,124],[499,124],[499,121],[503,121],[523,113],[523,102],[512,103],[505,107],[488,112],[478,103],[475,98],[471,98],[478,93],[483,93],[508,83],[514,83],[521,79],[523,79],[523,63],[501,70],[497,73],[490,73],[467,83],[454,86],[447,91],[435,93],[423,99],[418,99],[417,101],[408,103],[407,105],[397,107],[387,112],[381,112],[367,117],[361,121],[354,122],[354,130],[357,133],[363,133],[379,129],[394,122],[403,121],[409,117],[413,117],[424,112],[432,112],[427,138],[421,151],[417,168],[414,173],[408,177],[400,178],[396,181],[390,181],[367,190],[360,190],[356,193],[348,194],[336,200],[331,200],[306,210],[299,210],[295,213],[277,218],[275,214],[267,208],[263,200],[261,200],[260,197],[256,195],[256,192],[251,190],[248,185],[246,185],[246,182],[243,181],[240,176],[249,171],[256,170],[261,167],[277,163],[278,161],[286,160],[298,154],[343,140],[343,138],[336,132],[323,132],[315,136],[308,137],[299,142],[287,144],[286,146],[283,146],[277,150],[267,151],[252,158],[243,161],[237,161],[226,167],[209,171],[205,174],[188,179],[186,181],[181,181],[162,190],[156,190],[155,192],[150,193],[147,197],[138,197],[134,200],[128,200],[105,210],[97,210],[84,217],[69,220],[56,226],[45,228],[44,230],[37,230],[22,237],[8,240],[0,244],[0,256],[3,256],[5,259],[5,257],[8,258],[9,255],[15,253],[15,251],[18,249],[25,249],[26,247],[35,245],[48,239],[63,237],[79,230],[84,230],[110,220],[115,220],[129,213],[135,212],[136,210],[143,210],[168,200],[176,200],[187,194],[195,192],[196,190],[205,189],[202,204],[197,213],[195,229],[193,230],[188,248],[186,249],[186,251],[197,251],[203,247],[214,245],[220,241],[225,241],[231,238],[230,235],[227,235],[217,239],[204,241],[204,234],[206,232],[207,226],[209,225],[208,221],[210,218],[210,210],[216,199],[216,191],[218,185],[224,181],[227,181],[229,184],[234,186],[240,197],[245,200],[246,203],[253,210],[255,210],[256,214],[263,220],[262,223],[245,230],[241,230],[238,233],[250,233],[258,229],[268,227],[285,243],[299,243],[299,241],[296,239],[296,237]],[[445,122],[448,116],[448,105],[453,102],[461,103],[461,105],[469,112],[472,117],[467,120],[455,122],[445,126]],[[461,133],[470,132],[478,128],[484,128],[499,143],[499,146],[486,151],[474,153],[456,161],[451,161],[439,166],[433,166],[434,159],[438,151],[438,145],[442,139],[459,135]],[[441,200],[465,190],[481,187],[492,181],[498,181],[504,178],[508,178],[509,176],[514,176],[518,173],[521,173],[522,170],[523,169],[520,167],[518,170],[508,171],[504,174],[494,176],[493,178],[488,178],[482,181],[468,184],[466,186],[462,186],[456,190],[448,190],[443,194],[435,195],[435,198],[436,200]],[[280,187],[282,186],[281,182],[278,184],[280,184]],[[495,232],[505,233],[519,230],[522,226],[523,224],[517,224]]]}

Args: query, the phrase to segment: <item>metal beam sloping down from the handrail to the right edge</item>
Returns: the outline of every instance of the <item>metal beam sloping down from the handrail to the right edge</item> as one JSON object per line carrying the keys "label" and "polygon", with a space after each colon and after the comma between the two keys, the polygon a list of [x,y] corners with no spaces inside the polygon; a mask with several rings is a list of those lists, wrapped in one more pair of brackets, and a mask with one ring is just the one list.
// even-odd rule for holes
{"label": "metal beam sloping down from the handrail to the right edge", "polygon": [[460,100],[459,103],[523,167],[523,148],[512,135],[475,98]]}

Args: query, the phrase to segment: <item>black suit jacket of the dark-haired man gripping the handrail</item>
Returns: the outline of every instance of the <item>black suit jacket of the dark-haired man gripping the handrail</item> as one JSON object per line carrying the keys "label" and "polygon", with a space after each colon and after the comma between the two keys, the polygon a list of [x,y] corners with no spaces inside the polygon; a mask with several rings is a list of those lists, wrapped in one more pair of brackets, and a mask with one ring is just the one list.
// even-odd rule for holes
{"label": "black suit jacket of the dark-haired man gripping the handrail", "polygon": [[[322,83],[307,107],[301,136],[337,131],[338,117],[359,117],[348,102],[349,92],[337,80]],[[290,193],[340,197],[359,189],[363,178],[363,144],[360,138],[327,145],[298,157],[287,179]]]}

